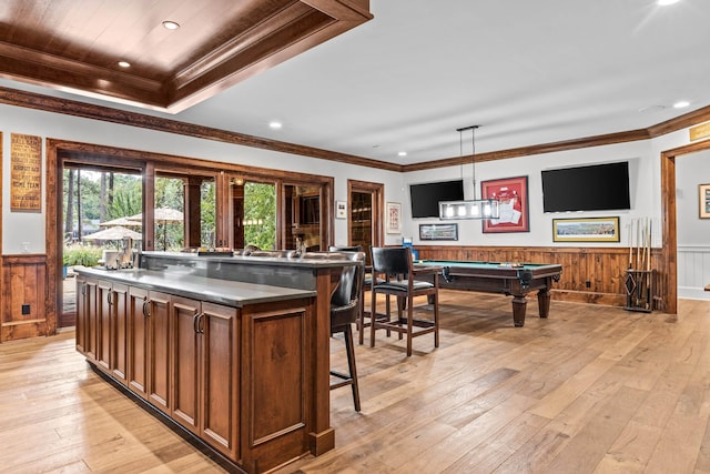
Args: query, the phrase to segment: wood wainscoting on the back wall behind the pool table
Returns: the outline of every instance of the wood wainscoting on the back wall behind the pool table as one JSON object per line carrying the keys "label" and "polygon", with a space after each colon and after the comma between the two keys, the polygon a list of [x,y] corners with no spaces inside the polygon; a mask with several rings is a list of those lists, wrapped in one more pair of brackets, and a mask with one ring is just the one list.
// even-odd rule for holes
{"label": "wood wainscoting on the back wall behind the pool table", "polygon": [[[626,304],[628,248],[417,245],[416,249],[422,260],[559,263],[562,274],[552,285],[552,299],[612,306]],[[653,309],[666,311],[667,276],[658,262],[659,250],[652,249],[651,268],[656,269]]]}

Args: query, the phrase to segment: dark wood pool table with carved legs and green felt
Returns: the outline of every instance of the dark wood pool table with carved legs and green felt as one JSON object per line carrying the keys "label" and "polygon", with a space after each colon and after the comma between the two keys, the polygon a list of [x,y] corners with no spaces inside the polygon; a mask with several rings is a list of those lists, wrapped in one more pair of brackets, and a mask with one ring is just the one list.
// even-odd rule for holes
{"label": "dark wood pool table with carved legs and green felt", "polygon": [[513,323],[516,327],[525,325],[527,294],[535,290],[540,317],[547,317],[550,288],[562,273],[562,265],[547,263],[420,260],[415,265],[440,266],[439,288],[513,295]]}

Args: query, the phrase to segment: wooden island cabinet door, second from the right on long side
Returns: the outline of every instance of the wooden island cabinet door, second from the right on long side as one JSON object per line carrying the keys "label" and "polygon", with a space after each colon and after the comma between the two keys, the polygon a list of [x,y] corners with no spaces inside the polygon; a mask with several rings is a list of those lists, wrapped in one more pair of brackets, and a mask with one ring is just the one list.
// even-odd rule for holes
{"label": "wooden island cabinet door, second from the right on long side", "polygon": [[180,296],[172,296],[171,303],[174,324],[172,417],[194,434],[200,434],[201,304]]}

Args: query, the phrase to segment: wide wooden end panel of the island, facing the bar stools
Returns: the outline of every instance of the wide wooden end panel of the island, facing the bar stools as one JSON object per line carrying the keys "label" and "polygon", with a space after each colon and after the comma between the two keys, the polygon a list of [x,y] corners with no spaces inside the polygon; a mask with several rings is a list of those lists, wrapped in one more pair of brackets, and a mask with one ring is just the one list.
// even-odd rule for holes
{"label": "wide wooden end panel of the island, facing the bar stools", "polygon": [[[270,453],[295,458],[308,451],[316,406],[311,300],[253,304],[241,309],[242,460],[267,471]],[[313,327],[313,325],[311,326]],[[327,351],[327,345],[324,347]],[[310,353],[311,352],[311,353]],[[313,361],[308,365],[305,361]],[[327,359],[326,359],[327,364]],[[326,367],[327,369],[327,367]],[[326,389],[327,390],[327,389]]]}

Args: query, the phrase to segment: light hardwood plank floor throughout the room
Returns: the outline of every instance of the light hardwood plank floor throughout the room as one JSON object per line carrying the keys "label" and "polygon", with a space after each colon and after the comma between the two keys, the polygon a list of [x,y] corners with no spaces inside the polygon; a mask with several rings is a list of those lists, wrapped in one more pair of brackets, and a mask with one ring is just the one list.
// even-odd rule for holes
{"label": "light hardwood plank floor throughout the room", "polygon": [[[678,316],[443,291],[442,344],[357,346],[363,411],[332,392],[336,448],[286,473],[710,473],[710,301]],[[333,365],[344,363],[341,341]],[[73,332],[0,344],[0,470],[222,472],[97,376]]]}

